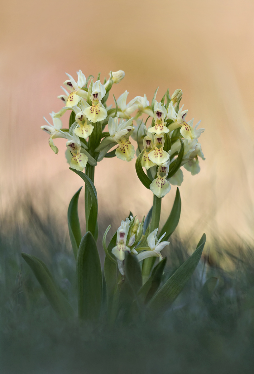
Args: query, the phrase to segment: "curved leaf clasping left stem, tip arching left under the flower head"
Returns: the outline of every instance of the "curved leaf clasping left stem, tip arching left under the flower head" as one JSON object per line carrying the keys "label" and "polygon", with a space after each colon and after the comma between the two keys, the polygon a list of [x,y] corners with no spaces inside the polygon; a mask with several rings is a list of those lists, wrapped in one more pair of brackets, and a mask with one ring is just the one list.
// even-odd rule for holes
{"label": "curved leaf clasping left stem, tip arching left under the flower head", "polygon": [[71,171],[79,175],[83,181],[85,182],[86,186],[88,187],[90,196],[91,196],[91,209],[89,212],[89,218],[88,218],[88,231],[92,233],[95,239],[98,238],[98,227],[97,226],[97,216],[98,216],[98,201],[97,201],[97,192],[94,187],[94,183],[92,183],[91,179],[82,171],[75,170],[69,168]]}

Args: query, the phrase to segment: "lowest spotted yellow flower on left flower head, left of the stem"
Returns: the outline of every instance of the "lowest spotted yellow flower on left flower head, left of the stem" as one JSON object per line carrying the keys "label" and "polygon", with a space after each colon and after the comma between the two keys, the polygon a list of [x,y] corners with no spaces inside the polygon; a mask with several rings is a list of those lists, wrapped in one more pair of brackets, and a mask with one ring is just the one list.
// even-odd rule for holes
{"label": "lowest spotted yellow flower on left flower head, left of the stem", "polygon": [[73,132],[73,135],[70,135],[68,132],[65,132],[64,134],[68,139],[66,147],[72,154],[70,167],[72,169],[83,171],[88,162],[88,157],[86,154],[81,152],[81,143],[79,137],[75,134],[75,132]]}

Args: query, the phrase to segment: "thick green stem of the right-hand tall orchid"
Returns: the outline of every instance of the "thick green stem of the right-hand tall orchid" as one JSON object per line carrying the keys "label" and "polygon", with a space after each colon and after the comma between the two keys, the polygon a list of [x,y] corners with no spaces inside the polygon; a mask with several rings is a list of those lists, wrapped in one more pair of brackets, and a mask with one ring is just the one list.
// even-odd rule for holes
{"label": "thick green stem of the right-hand tall orchid", "polygon": [[[159,227],[160,223],[160,208],[161,208],[161,197],[157,197],[153,195],[153,212],[152,212],[152,220],[150,226],[150,233]],[[150,272],[154,265],[156,257],[149,257],[145,258],[142,264],[142,277],[143,277],[143,284],[146,283],[147,279],[149,278]]]}

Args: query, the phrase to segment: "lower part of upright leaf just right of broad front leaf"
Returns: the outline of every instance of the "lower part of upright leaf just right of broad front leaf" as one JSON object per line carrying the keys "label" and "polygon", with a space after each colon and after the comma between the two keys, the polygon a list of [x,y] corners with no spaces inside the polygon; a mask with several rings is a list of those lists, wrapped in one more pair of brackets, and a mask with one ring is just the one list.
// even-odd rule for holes
{"label": "lower part of upright leaf just right of broad front leaf", "polygon": [[107,287],[108,316],[110,316],[117,282],[117,264],[113,263],[107,256],[104,261],[104,276]]}

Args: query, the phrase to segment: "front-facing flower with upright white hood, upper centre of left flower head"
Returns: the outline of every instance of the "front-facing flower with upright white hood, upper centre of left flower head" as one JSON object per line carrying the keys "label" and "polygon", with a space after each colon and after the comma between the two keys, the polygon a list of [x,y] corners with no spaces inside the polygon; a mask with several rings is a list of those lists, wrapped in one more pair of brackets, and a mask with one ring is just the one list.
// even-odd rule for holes
{"label": "front-facing flower with upright white hood, upper centre of left flower head", "polygon": [[100,80],[97,80],[92,87],[92,105],[88,105],[84,110],[85,116],[92,123],[103,121],[107,117],[107,110],[101,104],[101,99],[105,94],[105,87],[101,84]]}

